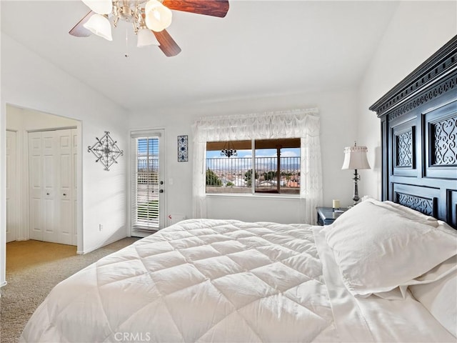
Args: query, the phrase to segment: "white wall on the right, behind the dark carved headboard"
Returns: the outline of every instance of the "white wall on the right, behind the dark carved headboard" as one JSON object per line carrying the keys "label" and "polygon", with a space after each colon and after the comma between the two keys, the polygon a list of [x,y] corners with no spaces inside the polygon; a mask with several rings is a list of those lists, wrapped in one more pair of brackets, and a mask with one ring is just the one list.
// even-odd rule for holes
{"label": "white wall on the right, behind the dark carved headboard", "polygon": [[402,1],[398,6],[360,87],[358,137],[374,166],[362,175],[366,194],[381,199],[381,121],[368,107],[456,34],[457,1]]}

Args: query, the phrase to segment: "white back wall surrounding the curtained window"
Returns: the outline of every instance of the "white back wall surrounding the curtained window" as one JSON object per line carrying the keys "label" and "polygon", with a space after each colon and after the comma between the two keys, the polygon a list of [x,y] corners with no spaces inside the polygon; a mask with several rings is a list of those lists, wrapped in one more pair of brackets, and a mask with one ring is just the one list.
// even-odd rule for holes
{"label": "white back wall surrounding the curtained window", "polygon": [[[343,206],[351,203],[353,183],[351,172],[342,171],[343,148],[356,138],[356,91],[336,90],[265,98],[233,99],[224,102],[191,104],[172,109],[151,110],[130,114],[132,129],[163,127],[166,130],[167,214],[192,216],[192,157],[191,125],[201,116],[250,114],[263,111],[318,107],[321,115],[321,149],[323,164],[323,204],[331,206],[340,199]],[[177,161],[177,136],[189,135],[189,162]],[[361,189],[363,192],[363,189]],[[230,209],[229,212],[226,209]],[[247,221],[300,222],[301,204],[298,199],[266,197],[208,197],[210,218],[232,218]]]}

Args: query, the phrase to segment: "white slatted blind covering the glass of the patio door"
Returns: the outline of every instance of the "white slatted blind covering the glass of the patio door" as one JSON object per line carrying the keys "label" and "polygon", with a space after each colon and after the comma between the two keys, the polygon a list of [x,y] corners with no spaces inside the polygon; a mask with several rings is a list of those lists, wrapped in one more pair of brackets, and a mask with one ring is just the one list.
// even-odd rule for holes
{"label": "white slatted blind covering the glass of the patio door", "polygon": [[159,229],[159,136],[134,136],[132,229]]}

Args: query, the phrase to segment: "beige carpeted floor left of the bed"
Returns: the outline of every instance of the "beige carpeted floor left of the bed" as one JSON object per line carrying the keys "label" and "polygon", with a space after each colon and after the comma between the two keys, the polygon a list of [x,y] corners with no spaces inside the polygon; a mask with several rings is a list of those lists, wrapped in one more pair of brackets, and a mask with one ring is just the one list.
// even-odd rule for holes
{"label": "beige carpeted floor left of the bed", "polygon": [[39,241],[6,244],[6,284],[0,289],[0,342],[16,343],[36,307],[70,275],[138,238],[125,238],[77,255],[76,247]]}

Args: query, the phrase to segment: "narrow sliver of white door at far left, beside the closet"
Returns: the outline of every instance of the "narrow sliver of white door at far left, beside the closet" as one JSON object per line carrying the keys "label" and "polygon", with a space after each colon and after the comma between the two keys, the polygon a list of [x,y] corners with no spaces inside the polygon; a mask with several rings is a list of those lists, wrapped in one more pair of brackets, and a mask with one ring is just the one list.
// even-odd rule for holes
{"label": "narrow sliver of white door at far left, beside the closet", "polygon": [[6,131],[6,242],[17,239],[17,150],[16,132]]}

